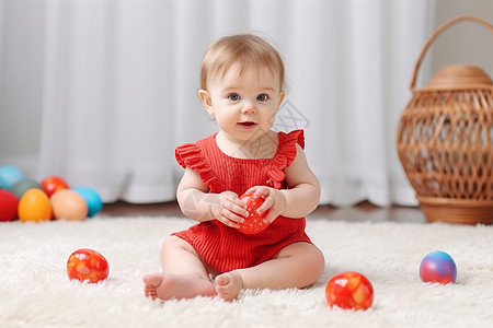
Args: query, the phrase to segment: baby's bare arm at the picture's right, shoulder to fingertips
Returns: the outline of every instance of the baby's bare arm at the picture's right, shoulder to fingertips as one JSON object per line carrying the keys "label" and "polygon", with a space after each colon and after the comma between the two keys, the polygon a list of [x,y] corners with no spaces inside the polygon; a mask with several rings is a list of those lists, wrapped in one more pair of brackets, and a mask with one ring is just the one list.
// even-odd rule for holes
{"label": "baby's bare arm at the picture's right, shoulder to fingertips", "polygon": [[272,222],[278,215],[286,218],[303,218],[311,213],[320,200],[319,181],[308,166],[305,152],[297,144],[296,159],[285,168],[286,181],[289,189],[276,190],[268,187],[253,187],[248,192],[263,196],[265,201],[259,212],[270,209],[266,222]]}

